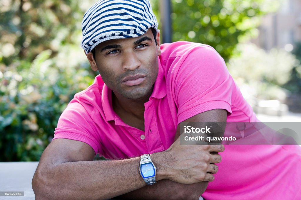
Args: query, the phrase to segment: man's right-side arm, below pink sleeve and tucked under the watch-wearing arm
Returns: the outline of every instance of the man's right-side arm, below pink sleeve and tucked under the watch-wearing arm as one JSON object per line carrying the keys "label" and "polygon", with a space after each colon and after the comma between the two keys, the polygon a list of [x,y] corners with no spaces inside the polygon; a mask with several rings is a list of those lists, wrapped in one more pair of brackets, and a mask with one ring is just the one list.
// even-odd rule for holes
{"label": "man's right-side arm, below pink sleeve and tucked under the watch-wearing arm", "polygon": [[[227,111],[216,109],[210,110],[194,117],[191,117],[185,122],[226,122]],[[180,124],[177,127],[177,133],[175,140],[180,136]],[[194,145],[192,145],[194,146]],[[191,147],[192,147],[191,146]],[[193,149],[191,149],[193,152]],[[174,182],[172,180],[164,179],[157,182],[153,186],[144,186],[135,191],[129,192],[127,194],[121,195],[120,199],[199,199],[208,186],[208,181],[201,181],[194,184],[181,184]],[[155,195],[154,195],[155,194]],[[118,199],[117,198],[117,199]]]}

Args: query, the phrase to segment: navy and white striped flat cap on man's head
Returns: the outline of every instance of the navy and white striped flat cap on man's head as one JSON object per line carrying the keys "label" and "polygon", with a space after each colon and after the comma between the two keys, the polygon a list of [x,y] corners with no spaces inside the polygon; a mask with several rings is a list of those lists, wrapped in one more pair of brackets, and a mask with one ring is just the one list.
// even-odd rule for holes
{"label": "navy and white striped flat cap on man's head", "polygon": [[135,38],[151,27],[158,23],[149,0],[100,0],[83,17],[81,45],[89,53],[103,41]]}

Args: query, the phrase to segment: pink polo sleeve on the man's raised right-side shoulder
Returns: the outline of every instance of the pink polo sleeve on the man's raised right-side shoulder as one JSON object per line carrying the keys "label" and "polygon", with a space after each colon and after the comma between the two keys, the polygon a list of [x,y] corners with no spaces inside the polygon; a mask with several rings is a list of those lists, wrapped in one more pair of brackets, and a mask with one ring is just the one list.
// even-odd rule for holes
{"label": "pink polo sleeve on the man's raised right-side shoulder", "polygon": [[232,114],[235,84],[224,60],[212,47],[194,47],[179,59],[174,72],[178,123],[213,109],[225,109],[228,116]]}

